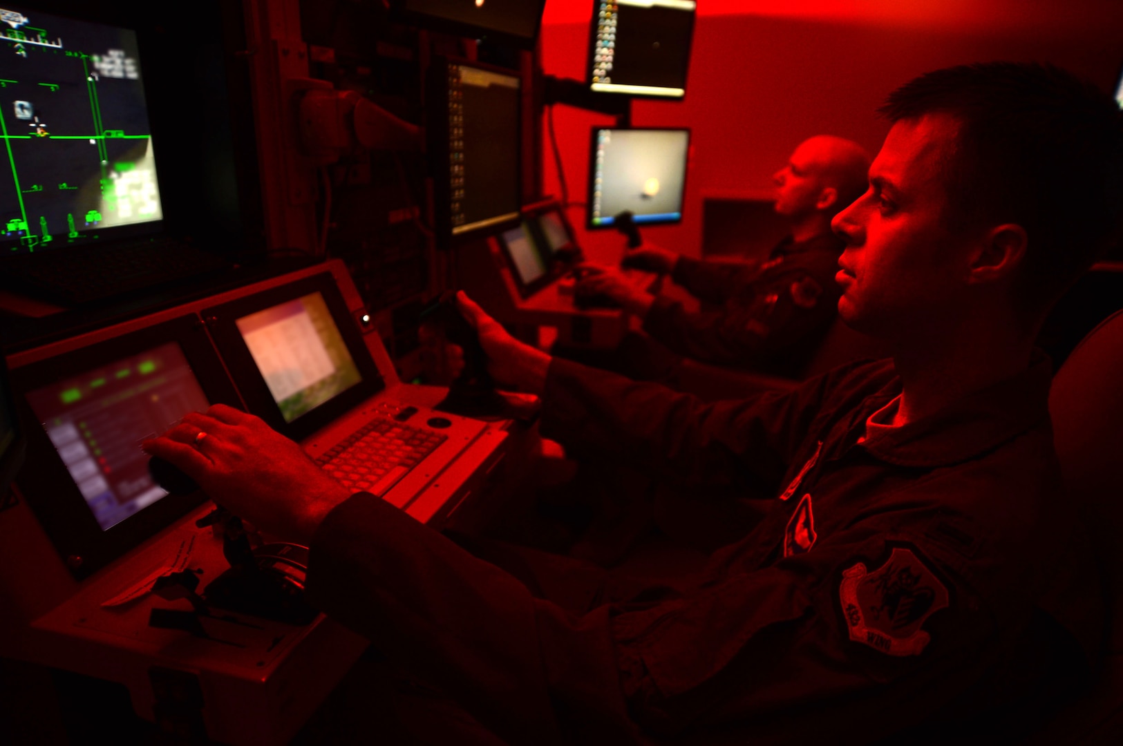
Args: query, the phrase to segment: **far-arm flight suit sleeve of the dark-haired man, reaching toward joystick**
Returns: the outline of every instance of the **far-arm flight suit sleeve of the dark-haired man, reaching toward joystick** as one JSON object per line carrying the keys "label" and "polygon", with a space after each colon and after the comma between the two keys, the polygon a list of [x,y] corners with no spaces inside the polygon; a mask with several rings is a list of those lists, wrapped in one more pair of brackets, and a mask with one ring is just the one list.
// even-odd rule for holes
{"label": "far-arm flight suit sleeve of the dark-haired man, reaching toward joystick", "polygon": [[658,384],[555,359],[540,430],[578,460],[614,459],[681,483],[778,487],[823,402],[856,367],[794,392],[703,403]]}

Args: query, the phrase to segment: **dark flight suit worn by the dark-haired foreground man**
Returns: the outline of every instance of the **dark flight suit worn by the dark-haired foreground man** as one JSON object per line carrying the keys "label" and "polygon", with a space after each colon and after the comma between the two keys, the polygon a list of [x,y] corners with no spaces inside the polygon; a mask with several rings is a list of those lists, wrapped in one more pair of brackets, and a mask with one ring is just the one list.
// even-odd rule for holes
{"label": "dark flight suit worn by the dark-haired foreground man", "polygon": [[969,722],[1033,701],[1102,633],[1049,383],[1037,358],[866,438],[901,390],[888,361],[703,405],[555,360],[542,435],[699,500],[764,481],[770,509],[688,587],[576,608],[358,494],[312,541],[309,597],[512,744],[870,743]]}

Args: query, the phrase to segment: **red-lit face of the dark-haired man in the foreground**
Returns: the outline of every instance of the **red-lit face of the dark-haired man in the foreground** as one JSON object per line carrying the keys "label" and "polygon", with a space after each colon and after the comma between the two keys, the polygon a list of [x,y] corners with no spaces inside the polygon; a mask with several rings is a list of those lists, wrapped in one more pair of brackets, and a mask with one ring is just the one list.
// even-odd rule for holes
{"label": "red-lit face of the dark-haired man in the foreground", "polygon": [[852,328],[909,339],[961,307],[969,237],[943,225],[941,168],[957,129],[943,114],[895,123],[869,168],[869,188],[834,217],[831,228],[847,243],[836,275],[839,315]]}

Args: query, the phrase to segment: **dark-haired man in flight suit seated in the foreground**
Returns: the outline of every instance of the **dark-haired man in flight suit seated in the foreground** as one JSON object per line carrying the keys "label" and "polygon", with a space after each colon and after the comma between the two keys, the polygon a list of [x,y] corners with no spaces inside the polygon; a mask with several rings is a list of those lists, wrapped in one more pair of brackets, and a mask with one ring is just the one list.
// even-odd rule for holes
{"label": "dark-haired man in flight suit seated in the foreground", "polygon": [[980,711],[1032,722],[1103,621],[1033,340],[1117,233],[1121,114],[1062,71],[1012,63],[929,73],[883,112],[869,188],[833,224],[839,313],[892,362],[703,404],[554,360],[462,298],[496,379],[541,395],[544,435],[700,500],[773,486],[764,519],[678,590],[551,598],[557,578],[511,574],[351,495],[221,405],[145,448],[309,543],[309,598],[506,743],[869,743],[925,721],[975,735]]}

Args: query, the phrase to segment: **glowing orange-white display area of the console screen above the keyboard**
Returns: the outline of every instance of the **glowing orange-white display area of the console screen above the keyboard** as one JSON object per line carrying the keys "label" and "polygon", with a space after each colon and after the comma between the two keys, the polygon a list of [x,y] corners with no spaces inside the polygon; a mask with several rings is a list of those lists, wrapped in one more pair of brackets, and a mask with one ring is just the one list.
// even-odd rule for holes
{"label": "glowing orange-white display area of the console screen above the keyboard", "polygon": [[285,422],[363,380],[318,292],[235,323]]}

